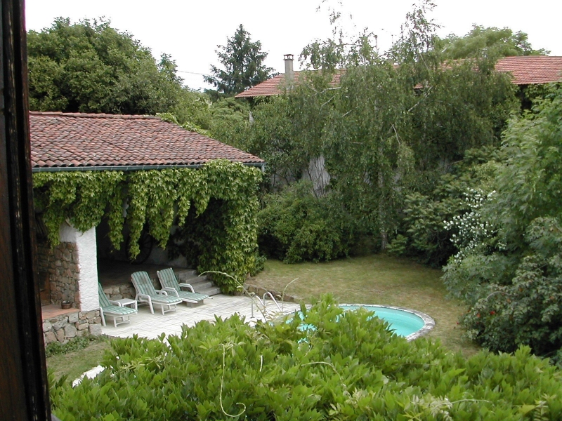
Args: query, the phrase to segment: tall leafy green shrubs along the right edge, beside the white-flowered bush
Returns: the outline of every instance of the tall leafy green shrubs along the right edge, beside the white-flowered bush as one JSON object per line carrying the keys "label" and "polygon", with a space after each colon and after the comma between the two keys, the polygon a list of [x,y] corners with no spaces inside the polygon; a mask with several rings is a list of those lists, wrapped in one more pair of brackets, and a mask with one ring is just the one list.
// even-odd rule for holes
{"label": "tall leafy green shrubs along the right edge, beside the white-flowered bush", "polygon": [[481,211],[497,233],[445,267],[447,286],[472,306],[469,335],[493,350],[562,348],[561,110],[557,87],[511,121],[495,199]]}

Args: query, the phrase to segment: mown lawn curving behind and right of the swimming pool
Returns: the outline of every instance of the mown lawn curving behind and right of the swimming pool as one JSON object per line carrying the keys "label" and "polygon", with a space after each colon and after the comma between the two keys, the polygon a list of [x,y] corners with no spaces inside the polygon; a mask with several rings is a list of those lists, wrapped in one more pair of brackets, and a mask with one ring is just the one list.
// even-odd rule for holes
{"label": "mown lawn curving behind and right of the swimming pool", "polygon": [[462,338],[457,324],[466,308],[457,300],[447,299],[440,281],[442,273],[411,260],[388,255],[369,255],[324,263],[287,265],[268,260],[265,269],[249,280],[268,290],[285,293],[311,302],[324,293],[332,293],[341,303],[393,305],[416,309],[436,321],[430,338],[441,340],[455,352],[469,356],[478,352],[473,342]]}

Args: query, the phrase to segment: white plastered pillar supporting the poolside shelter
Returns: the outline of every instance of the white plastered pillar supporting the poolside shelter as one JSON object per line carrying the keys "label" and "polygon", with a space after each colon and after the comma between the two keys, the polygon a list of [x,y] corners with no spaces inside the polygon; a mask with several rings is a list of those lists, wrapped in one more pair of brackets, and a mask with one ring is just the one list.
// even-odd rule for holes
{"label": "white plastered pillar supporting the poolside shelter", "polygon": [[60,226],[61,242],[76,243],[78,254],[79,309],[89,312],[100,307],[98,298],[98,252],[96,250],[96,227],[86,232],[68,224]]}

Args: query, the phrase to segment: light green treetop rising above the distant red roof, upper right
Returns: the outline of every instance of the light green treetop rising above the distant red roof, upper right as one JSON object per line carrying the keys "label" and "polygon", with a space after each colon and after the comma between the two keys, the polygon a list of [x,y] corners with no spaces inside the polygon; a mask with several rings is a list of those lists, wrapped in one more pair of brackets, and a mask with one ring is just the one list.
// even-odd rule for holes
{"label": "light green treetop rising above the distant red roof, upper right", "polygon": [[525,32],[513,32],[505,27],[482,27],[473,25],[471,31],[464,36],[450,34],[440,40],[440,47],[447,58],[461,58],[488,55],[490,57],[508,57],[511,55],[548,55],[550,51],[535,50],[528,41]]}

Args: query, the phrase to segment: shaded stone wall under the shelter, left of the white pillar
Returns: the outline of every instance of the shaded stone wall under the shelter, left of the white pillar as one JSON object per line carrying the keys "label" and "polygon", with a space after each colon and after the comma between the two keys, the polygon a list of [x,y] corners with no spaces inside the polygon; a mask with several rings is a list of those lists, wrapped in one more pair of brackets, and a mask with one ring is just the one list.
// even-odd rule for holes
{"label": "shaded stone wall under the shelter, left of the white pillar", "polygon": [[78,279],[78,250],[75,243],[59,243],[55,248],[48,243],[37,245],[39,252],[39,272],[48,274],[51,288],[51,302],[60,304],[67,300],[72,307],[79,303]]}

